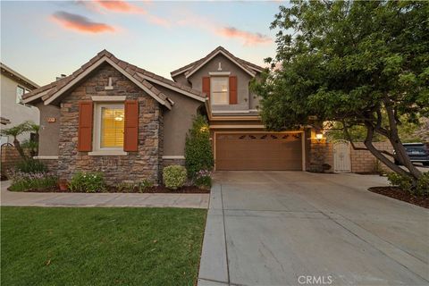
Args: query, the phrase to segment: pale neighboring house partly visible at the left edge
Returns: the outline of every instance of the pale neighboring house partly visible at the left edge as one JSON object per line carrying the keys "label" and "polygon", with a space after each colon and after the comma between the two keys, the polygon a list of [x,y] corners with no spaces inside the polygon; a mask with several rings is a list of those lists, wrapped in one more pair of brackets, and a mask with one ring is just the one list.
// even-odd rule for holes
{"label": "pale neighboring house partly visible at the left edge", "polygon": [[[4,63],[0,63],[1,76],[1,114],[2,129],[11,128],[21,122],[32,121],[38,123],[38,108],[32,105],[24,105],[22,97],[29,91],[38,88],[38,84],[27,79],[17,71],[13,71]],[[7,124],[7,125],[5,125]],[[5,126],[4,126],[5,125]],[[30,134],[22,134],[18,139],[29,139]],[[2,136],[1,144],[12,143],[13,138]]]}

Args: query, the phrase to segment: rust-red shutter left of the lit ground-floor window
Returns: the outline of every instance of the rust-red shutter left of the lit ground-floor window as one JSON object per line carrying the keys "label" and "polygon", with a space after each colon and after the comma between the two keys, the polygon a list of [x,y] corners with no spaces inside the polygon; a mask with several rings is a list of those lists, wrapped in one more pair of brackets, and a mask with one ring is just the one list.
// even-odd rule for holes
{"label": "rust-red shutter left of the lit ground-floor window", "polygon": [[78,150],[81,152],[92,150],[92,106],[92,101],[79,102]]}

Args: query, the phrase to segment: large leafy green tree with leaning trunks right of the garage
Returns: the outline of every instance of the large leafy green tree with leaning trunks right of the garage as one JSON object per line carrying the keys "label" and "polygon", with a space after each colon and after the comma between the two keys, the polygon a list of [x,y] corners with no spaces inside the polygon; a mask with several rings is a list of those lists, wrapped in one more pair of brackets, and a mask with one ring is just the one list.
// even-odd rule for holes
{"label": "large leafy green tree with leaning trunks right of the garage", "polygon": [[[365,148],[416,186],[421,177],[402,146],[401,119],[429,114],[429,2],[292,1],[280,6],[271,71],[252,87],[270,130],[341,122],[365,129]],[[315,115],[318,122],[311,122]],[[309,117],[310,116],[310,117]],[[374,137],[395,152],[374,147]],[[393,164],[394,158],[405,169]]]}

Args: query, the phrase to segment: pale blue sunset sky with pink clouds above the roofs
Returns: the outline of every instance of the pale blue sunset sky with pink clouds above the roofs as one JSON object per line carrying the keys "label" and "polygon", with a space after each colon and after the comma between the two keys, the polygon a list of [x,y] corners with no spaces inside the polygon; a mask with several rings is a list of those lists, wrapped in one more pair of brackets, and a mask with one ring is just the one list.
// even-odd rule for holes
{"label": "pale blue sunset sky with pink clouds above the roofs", "polygon": [[170,79],[216,46],[251,63],[275,55],[280,3],[1,1],[0,60],[45,85],[103,49]]}

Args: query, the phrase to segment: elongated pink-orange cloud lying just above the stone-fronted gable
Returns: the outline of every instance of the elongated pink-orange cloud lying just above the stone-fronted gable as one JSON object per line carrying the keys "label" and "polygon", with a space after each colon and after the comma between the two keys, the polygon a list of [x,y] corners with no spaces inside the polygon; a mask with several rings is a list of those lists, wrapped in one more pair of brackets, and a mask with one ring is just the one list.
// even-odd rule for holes
{"label": "elongated pink-orange cloud lying just above the stone-fronted gable", "polygon": [[58,22],[65,29],[72,29],[83,33],[103,33],[114,32],[115,29],[105,23],[91,21],[87,17],[78,14],[67,13],[63,11],[55,12],[52,15],[52,20]]}

